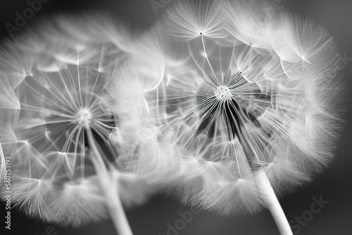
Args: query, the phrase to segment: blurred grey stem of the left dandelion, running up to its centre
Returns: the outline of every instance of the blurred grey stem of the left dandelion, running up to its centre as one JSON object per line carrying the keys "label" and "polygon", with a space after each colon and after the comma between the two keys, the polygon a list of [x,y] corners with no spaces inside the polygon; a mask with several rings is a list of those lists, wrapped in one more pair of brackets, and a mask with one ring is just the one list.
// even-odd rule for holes
{"label": "blurred grey stem of the left dandelion, running up to its centre", "polygon": [[94,152],[92,163],[94,164],[96,174],[99,177],[101,190],[103,191],[103,194],[106,198],[106,206],[110,213],[111,220],[113,220],[113,224],[115,225],[115,229],[118,231],[118,234],[132,235],[132,229],[127,221],[125,210],[123,210],[119,193],[115,190],[115,187],[113,187],[113,180],[109,176],[108,170],[105,163],[103,162],[103,158],[100,154],[98,146],[95,144],[92,129],[90,129],[89,126],[87,126],[85,129],[87,132],[89,146]]}

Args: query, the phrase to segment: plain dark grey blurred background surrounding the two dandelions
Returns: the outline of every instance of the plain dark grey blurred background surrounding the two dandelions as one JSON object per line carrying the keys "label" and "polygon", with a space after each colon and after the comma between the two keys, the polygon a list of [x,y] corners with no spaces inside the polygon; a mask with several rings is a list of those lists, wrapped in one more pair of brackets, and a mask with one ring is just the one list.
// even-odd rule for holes
{"label": "plain dark grey blurred background surrounding the two dandelions", "polygon": [[[165,0],[164,0],[165,1]],[[165,6],[168,8],[171,3]],[[274,1],[274,0],[272,0]],[[301,15],[322,23],[327,30],[334,35],[341,53],[348,58],[352,58],[352,1],[351,0],[282,0],[285,8]],[[25,0],[1,1],[0,2],[0,34],[3,39],[8,37],[5,24],[15,21],[15,12],[22,11],[28,5]],[[149,0],[50,0],[43,4],[41,11],[35,13],[25,27],[29,27],[37,20],[45,20],[47,14],[56,12],[78,13],[84,10],[101,10],[118,15],[127,25],[135,32],[143,32],[144,29],[151,26],[161,15],[165,8],[159,9],[156,15],[150,6]],[[324,174],[315,177],[315,180],[303,186],[281,200],[282,207],[289,220],[295,216],[301,216],[306,210],[310,210],[313,203],[313,196],[322,198],[329,203],[318,214],[314,215],[313,220],[308,222],[305,227],[301,228],[299,234],[305,235],[325,235],[352,234],[352,126],[351,126],[351,101],[352,98],[352,61],[348,61],[344,70],[346,87],[347,87],[347,112],[344,138],[339,144],[337,158],[332,165],[325,170]],[[351,89],[351,92],[349,92]],[[4,206],[1,206],[0,217],[4,218]],[[177,201],[172,201],[163,196],[153,198],[149,203],[142,207],[127,211],[127,217],[135,235],[165,235],[167,231],[166,224],[174,224],[180,219],[178,212],[184,212],[189,208],[179,205]],[[45,229],[51,224],[43,224],[36,220],[29,220],[23,215],[15,213],[12,210],[12,229],[8,233],[4,229],[4,219],[0,220],[1,231],[5,234],[45,234]],[[115,234],[113,224],[110,221],[89,224],[87,227],[80,229],[63,229],[53,225],[57,235],[92,235],[92,234]],[[3,233],[1,233],[3,234]],[[275,223],[269,212],[262,212],[258,215],[245,215],[234,217],[220,217],[210,212],[201,212],[195,215],[194,220],[187,224],[185,229],[179,232],[180,235],[242,235],[242,234],[278,234]]]}

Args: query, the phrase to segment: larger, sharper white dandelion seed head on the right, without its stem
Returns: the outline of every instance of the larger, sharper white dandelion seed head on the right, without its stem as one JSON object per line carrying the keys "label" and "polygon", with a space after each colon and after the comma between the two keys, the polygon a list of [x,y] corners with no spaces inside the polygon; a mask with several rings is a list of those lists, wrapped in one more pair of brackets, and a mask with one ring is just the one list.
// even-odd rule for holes
{"label": "larger, sharper white dandelion seed head on the right, without its stem", "polygon": [[[133,112],[112,108],[121,164],[183,203],[256,212],[265,202],[258,172],[284,194],[333,158],[341,124],[337,44],[321,25],[286,11],[263,21],[260,6],[178,1],[161,20],[177,45],[177,72],[158,60],[163,70],[144,80],[140,51],[120,68],[119,77],[133,79],[116,78],[109,89],[117,103],[137,101],[128,105]],[[148,40],[165,44],[153,34]],[[161,48],[164,59],[176,55],[168,49]],[[160,72],[158,86],[141,92]]]}

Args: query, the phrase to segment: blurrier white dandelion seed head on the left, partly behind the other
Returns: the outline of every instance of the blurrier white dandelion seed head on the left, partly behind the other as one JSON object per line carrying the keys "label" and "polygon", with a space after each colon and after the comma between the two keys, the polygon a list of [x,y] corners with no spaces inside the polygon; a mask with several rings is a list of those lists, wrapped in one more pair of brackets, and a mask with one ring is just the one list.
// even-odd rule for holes
{"label": "blurrier white dandelion seed head on the left, partly behind the other", "polygon": [[[96,179],[100,169],[89,165],[98,158],[96,145],[103,164],[118,168],[109,143],[115,118],[102,97],[134,42],[122,25],[99,15],[65,15],[39,26],[0,50],[0,143],[11,156],[15,207],[78,227],[108,213]],[[111,189],[128,207],[151,194],[142,179],[114,182]]]}

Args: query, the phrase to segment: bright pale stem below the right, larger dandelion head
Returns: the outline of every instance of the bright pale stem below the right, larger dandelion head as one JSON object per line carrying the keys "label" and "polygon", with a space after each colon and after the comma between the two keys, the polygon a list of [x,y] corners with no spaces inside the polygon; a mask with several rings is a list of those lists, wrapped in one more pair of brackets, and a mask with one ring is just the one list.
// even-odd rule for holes
{"label": "bright pale stem below the right, larger dandelion head", "polygon": [[265,197],[265,203],[268,205],[268,209],[270,210],[270,213],[275,220],[280,234],[293,235],[291,227],[289,226],[289,222],[287,221],[286,215],[284,214],[284,210],[282,210],[282,207],[277,200],[277,196],[275,195],[275,192],[272,189],[272,186],[265,172],[260,172],[256,175],[256,182],[258,184],[258,188]]}

